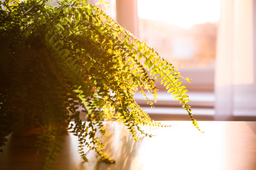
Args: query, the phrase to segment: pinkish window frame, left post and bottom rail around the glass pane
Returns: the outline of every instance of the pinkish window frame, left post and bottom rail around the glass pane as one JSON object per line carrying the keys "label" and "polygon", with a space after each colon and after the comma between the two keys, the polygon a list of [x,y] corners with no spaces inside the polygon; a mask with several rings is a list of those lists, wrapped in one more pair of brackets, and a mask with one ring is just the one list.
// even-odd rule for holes
{"label": "pinkish window frame, left post and bottom rail around the glass pane", "polygon": [[[116,0],[116,20],[135,37],[139,37],[137,0]],[[214,92],[215,68],[181,68],[179,71],[182,76],[192,79],[191,83],[183,81],[189,91]],[[159,81],[156,86],[160,91],[165,90]]]}

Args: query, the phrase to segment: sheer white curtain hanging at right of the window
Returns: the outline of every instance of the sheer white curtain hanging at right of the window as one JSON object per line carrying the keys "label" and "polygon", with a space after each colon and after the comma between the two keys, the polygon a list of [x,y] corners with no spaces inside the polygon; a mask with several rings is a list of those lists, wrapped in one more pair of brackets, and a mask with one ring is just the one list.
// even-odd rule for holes
{"label": "sheer white curtain hanging at right of the window", "polygon": [[256,1],[222,0],[215,120],[256,116]]}

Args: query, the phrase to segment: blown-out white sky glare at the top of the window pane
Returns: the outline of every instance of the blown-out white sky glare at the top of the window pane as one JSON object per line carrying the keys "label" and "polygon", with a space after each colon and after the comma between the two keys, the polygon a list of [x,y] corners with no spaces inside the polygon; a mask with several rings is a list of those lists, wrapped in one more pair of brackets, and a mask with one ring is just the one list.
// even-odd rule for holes
{"label": "blown-out white sky glare at the top of the window pane", "polygon": [[138,15],[188,29],[196,24],[218,22],[220,3],[220,0],[138,0]]}

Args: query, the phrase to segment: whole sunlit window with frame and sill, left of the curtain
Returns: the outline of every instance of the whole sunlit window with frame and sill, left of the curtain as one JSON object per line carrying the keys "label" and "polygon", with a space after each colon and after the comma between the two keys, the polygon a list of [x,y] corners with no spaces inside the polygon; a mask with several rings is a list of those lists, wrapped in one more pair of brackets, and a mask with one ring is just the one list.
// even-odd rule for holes
{"label": "whole sunlit window with frame and sill, left of the curtain", "polygon": [[[188,95],[192,99],[190,105],[196,107],[194,114],[202,116],[215,114],[213,91],[219,12],[220,0],[116,0],[117,22],[179,67],[182,75],[192,78],[192,84],[184,85],[192,92]],[[177,118],[178,114],[187,118],[186,112],[180,112],[183,110],[179,102],[170,99],[160,83],[157,86],[160,93],[156,109],[148,110],[138,94],[135,99],[140,106],[155,120],[173,120],[170,116]]]}

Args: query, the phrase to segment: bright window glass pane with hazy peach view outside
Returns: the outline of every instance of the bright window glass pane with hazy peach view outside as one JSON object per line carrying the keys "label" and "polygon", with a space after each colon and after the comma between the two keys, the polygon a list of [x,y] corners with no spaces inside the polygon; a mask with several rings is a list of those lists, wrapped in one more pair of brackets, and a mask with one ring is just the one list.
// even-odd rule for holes
{"label": "bright window glass pane with hazy peach view outside", "polygon": [[214,67],[220,0],[138,0],[139,39],[177,67]]}

